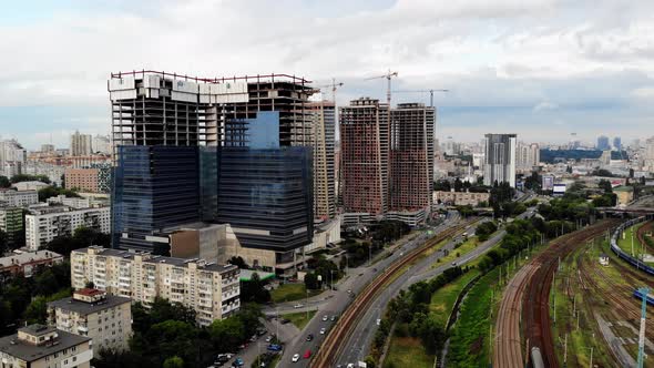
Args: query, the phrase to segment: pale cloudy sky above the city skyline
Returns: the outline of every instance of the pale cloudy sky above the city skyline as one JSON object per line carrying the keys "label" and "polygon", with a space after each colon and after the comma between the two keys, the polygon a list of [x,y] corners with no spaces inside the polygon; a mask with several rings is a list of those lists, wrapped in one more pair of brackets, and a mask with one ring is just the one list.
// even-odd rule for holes
{"label": "pale cloudy sky above the city skyline", "polygon": [[[339,103],[435,96],[438,137],[654,135],[654,1],[42,0],[0,12],[0,135],[109,133],[110,72],[304,75]],[[428,93],[397,93],[395,102]]]}

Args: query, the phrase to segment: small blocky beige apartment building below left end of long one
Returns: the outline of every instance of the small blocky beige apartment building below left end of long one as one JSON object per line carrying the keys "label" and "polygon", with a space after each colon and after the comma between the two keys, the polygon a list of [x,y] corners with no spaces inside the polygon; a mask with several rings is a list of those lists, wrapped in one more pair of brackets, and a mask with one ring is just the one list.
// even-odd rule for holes
{"label": "small blocky beige apartment building below left end of long one", "polygon": [[48,323],[60,330],[90,337],[95,351],[127,350],[132,336],[131,301],[83,288],[72,297],[48,303]]}

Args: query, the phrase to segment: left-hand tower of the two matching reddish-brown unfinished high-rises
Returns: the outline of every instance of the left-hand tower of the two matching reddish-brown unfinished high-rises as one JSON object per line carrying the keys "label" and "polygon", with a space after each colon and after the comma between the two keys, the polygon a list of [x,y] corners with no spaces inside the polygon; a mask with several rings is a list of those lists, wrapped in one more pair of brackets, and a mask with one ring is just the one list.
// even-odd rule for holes
{"label": "left-hand tower of the two matching reddish-brown unfinished high-rises", "polygon": [[346,213],[381,218],[388,211],[389,106],[361,98],[339,109],[340,180]]}

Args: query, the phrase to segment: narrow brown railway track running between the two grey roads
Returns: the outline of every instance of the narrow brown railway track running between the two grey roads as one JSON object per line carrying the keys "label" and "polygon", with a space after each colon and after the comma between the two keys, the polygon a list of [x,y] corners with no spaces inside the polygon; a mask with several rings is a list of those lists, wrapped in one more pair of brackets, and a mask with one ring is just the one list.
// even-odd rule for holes
{"label": "narrow brown railway track running between the two grey roads", "polygon": [[347,307],[343,316],[336,323],[336,326],[329,331],[320,349],[315,355],[311,361],[311,367],[329,367],[336,362],[336,358],[343,348],[343,341],[356,327],[360,316],[368,313],[368,306],[375,297],[384,289],[386,284],[400,275],[405,267],[418,259],[429,248],[436,246],[438,243],[456,235],[463,231],[467,226],[472,225],[479,219],[469,219],[460,225],[452,226],[432,237],[422,246],[411,251],[407,256],[392,264],[377,276],[364,290],[355,298],[355,300]]}

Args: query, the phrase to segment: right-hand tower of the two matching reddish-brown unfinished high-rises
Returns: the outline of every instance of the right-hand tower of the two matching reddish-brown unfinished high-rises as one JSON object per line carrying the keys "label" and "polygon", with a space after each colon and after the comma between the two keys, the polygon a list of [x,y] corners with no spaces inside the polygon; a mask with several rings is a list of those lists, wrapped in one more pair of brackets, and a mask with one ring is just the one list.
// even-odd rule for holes
{"label": "right-hand tower of the two matching reddish-brown unfinished high-rises", "polygon": [[435,109],[401,103],[390,111],[391,213],[423,221],[431,208]]}

